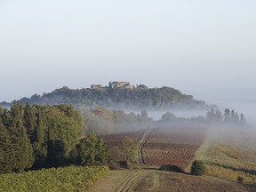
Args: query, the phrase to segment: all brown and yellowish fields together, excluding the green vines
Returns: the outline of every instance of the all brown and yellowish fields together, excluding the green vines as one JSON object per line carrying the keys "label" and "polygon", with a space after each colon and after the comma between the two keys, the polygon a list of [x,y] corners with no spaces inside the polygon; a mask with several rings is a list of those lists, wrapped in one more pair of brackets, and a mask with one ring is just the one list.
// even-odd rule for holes
{"label": "all brown and yellowish fields together, excluding the green vines", "polygon": [[[111,171],[92,191],[256,191],[256,140],[250,130],[176,126],[103,138],[114,148],[124,136],[140,146],[137,169]],[[204,161],[208,176],[157,170],[173,164],[189,171],[195,158]],[[237,183],[238,176],[244,183]]]}

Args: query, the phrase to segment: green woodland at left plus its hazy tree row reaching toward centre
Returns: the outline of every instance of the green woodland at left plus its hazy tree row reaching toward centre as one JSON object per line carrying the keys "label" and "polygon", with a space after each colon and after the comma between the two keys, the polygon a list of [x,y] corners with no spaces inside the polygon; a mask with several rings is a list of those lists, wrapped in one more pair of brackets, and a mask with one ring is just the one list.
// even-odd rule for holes
{"label": "green woodland at left plus its hazy tree row reaching toward centre", "polygon": [[10,109],[0,108],[0,173],[107,164],[107,147],[97,135],[152,124],[147,111],[135,115],[84,108],[81,112],[71,105],[31,106],[14,101]]}

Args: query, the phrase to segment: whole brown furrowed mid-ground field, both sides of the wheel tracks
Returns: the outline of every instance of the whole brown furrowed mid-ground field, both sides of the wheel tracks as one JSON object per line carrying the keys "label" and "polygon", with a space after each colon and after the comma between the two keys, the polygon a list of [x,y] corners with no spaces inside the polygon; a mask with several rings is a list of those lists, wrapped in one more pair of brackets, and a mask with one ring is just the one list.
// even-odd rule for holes
{"label": "whole brown furrowed mid-ground field, both sides of the wheel tracks", "polygon": [[103,139],[108,148],[114,148],[120,145],[124,136],[131,137],[134,143],[140,144],[138,163],[156,166],[173,164],[185,169],[195,157],[206,133],[207,129],[198,127],[170,127],[112,134]]}

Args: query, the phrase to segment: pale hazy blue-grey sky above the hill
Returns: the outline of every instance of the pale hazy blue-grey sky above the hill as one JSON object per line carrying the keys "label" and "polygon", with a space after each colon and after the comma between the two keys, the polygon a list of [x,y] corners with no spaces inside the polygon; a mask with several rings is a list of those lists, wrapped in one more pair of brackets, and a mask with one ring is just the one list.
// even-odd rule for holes
{"label": "pale hazy blue-grey sky above the hill", "polygon": [[114,80],[256,89],[255,46],[255,0],[0,0],[0,100]]}

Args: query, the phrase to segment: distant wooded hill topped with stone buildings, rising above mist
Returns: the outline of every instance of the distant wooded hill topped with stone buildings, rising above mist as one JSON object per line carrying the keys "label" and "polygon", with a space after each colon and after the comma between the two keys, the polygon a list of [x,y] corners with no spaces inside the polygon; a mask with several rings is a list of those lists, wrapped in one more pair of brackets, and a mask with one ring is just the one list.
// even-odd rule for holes
{"label": "distant wooded hill topped with stone buildings, rising above mist", "polygon": [[[106,108],[206,108],[202,100],[195,100],[171,87],[148,88],[144,84],[132,86],[128,82],[109,82],[108,86],[92,84],[91,88],[69,89],[64,86],[42,96],[34,94],[31,98],[22,98],[20,103],[30,104],[72,104],[88,107],[102,106]],[[2,102],[8,107],[11,103]]]}

